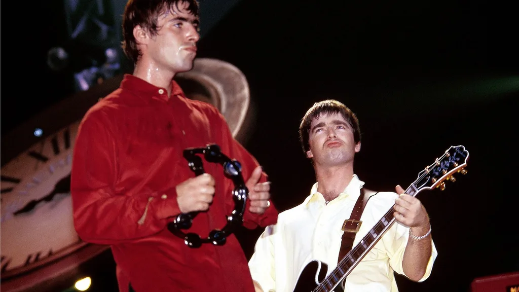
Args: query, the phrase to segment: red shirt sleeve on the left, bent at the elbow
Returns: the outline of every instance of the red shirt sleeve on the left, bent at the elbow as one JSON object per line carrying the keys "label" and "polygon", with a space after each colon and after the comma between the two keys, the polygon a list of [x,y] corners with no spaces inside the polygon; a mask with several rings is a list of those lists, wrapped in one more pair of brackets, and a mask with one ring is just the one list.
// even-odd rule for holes
{"label": "red shirt sleeve on the left, bent at the elbow", "polygon": [[116,244],[157,233],[180,213],[175,189],[130,196],[116,190],[117,143],[101,111],[81,122],[74,146],[71,194],[74,225],[81,240]]}

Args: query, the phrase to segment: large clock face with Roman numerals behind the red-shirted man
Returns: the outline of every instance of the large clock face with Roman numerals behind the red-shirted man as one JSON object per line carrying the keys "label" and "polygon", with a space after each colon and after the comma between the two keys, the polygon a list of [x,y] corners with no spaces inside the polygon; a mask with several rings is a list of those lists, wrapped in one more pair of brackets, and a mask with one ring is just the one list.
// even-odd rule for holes
{"label": "large clock face with Roman numerals behind the red-shirted man", "polygon": [[74,230],[70,171],[79,121],[34,144],[1,169],[2,279],[84,245]]}

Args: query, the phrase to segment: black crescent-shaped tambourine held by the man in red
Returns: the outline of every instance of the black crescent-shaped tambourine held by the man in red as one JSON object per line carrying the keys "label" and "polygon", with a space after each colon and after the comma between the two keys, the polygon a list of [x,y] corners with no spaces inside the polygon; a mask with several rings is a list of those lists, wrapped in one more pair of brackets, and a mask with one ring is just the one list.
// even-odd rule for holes
{"label": "black crescent-shaped tambourine held by the man in red", "polygon": [[202,238],[196,233],[182,232],[182,229],[191,227],[193,218],[198,212],[177,215],[173,222],[168,223],[168,230],[176,236],[184,238],[185,244],[192,248],[200,247],[202,243],[223,245],[226,242],[227,236],[233,233],[233,230],[243,222],[243,213],[245,212],[245,203],[247,203],[249,190],[245,187],[240,163],[225,156],[220,151],[218,145],[209,144],[204,148],[187,148],[184,150],[183,156],[187,160],[189,168],[195,172],[196,176],[199,176],[204,174],[205,171],[203,170],[202,160],[197,154],[203,154],[203,157],[208,162],[220,163],[223,166],[225,177],[231,179],[234,183],[233,200],[235,208],[231,215],[227,216],[225,227],[211,231],[206,238]]}

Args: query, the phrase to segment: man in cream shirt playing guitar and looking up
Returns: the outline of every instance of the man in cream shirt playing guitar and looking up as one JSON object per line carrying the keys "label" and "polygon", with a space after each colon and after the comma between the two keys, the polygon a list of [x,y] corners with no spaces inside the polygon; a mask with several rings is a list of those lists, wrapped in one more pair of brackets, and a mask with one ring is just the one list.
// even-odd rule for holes
{"label": "man in cream shirt playing guitar and looking up", "polygon": [[[258,238],[249,261],[256,291],[292,292],[312,260],[326,263],[327,271],[332,271],[343,222],[364,185],[353,172],[353,157],[361,145],[359,122],[344,104],[335,100],[314,104],[303,118],[299,135],[317,182],[302,204],[280,213],[277,224]],[[394,272],[417,282],[431,273],[437,252],[427,211],[399,185],[396,191],[378,192],[365,206],[353,246],[393,205],[396,222],[347,275],[348,292],[397,292]]]}

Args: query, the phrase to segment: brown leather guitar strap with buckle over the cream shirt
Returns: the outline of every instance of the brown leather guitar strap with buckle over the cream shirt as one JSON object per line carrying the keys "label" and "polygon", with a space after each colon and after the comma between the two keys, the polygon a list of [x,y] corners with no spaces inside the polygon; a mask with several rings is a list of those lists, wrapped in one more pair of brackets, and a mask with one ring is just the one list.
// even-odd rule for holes
{"label": "brown leather guitar strap with buckle over the cream shirt", "polygon": [[[367,190],[367,192],[372,192],[370,190]],[[340,250],[339,250],[339,258],[337,262],[342,260],[346,254],[351,250],[351,247],[353,247],[353,241],[355,240],[355,235],[357,235],[357,231],[359,231],[361,221],[360,217],[362,215],[362,211],[364,211],[364,206],[367,203],[367,197],[366,197],[366,189],[362,188],[360,189],[360,196],[357,199],[357,202],[355,203],[355,206],[353,207],[353,210],[351,211],[350,219],[345,220],[343,224],[343,241],[340,244]]]}

